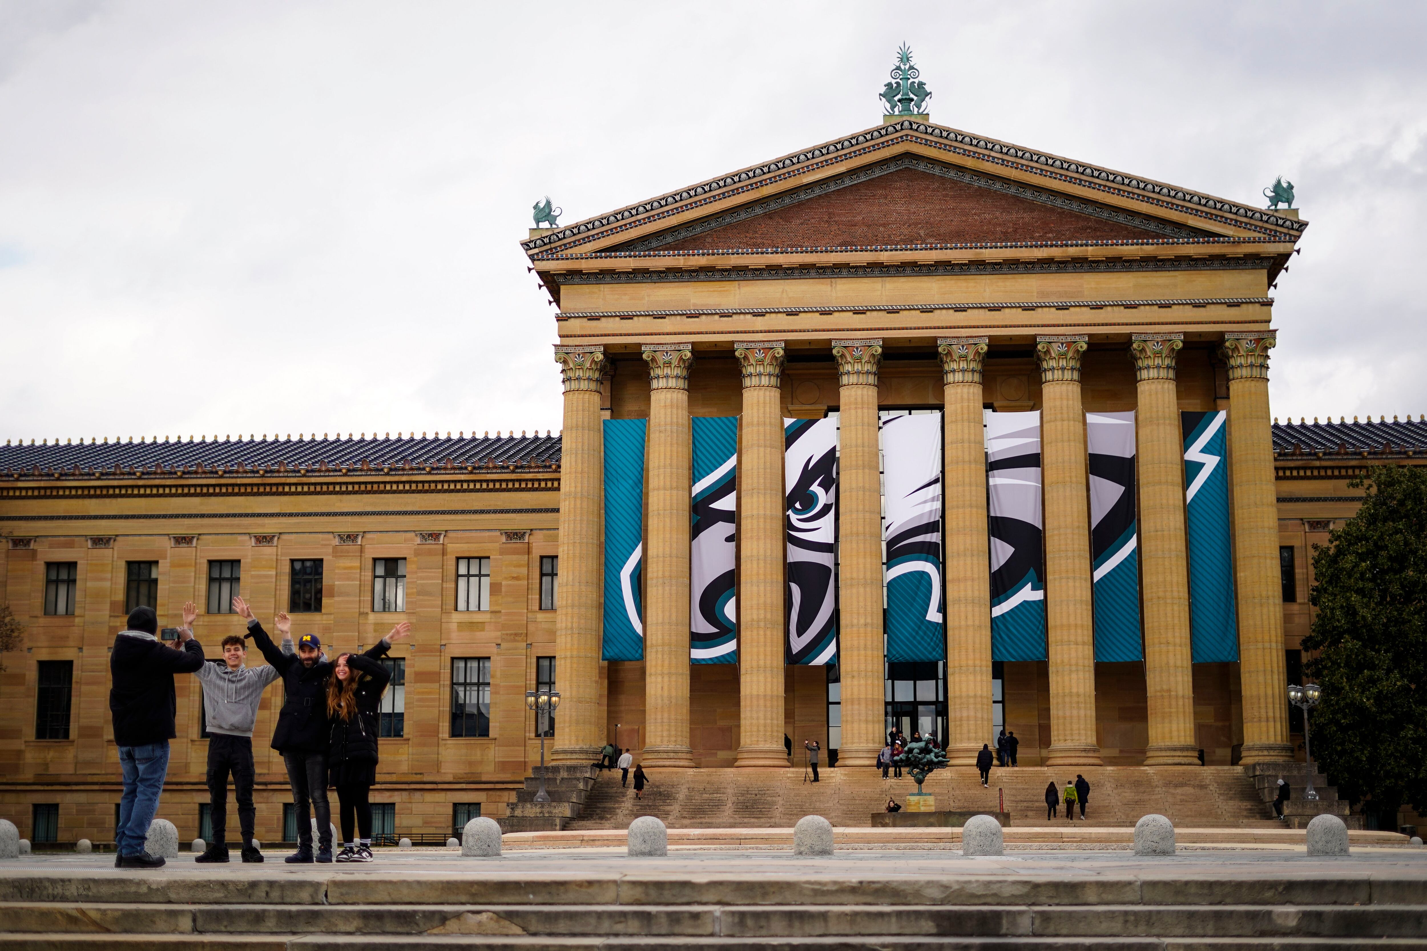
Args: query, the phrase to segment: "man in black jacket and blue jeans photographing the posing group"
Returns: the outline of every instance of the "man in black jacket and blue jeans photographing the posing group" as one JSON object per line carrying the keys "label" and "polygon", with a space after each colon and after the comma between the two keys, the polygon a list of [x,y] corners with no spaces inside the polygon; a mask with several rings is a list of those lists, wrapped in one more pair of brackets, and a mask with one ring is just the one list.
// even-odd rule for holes
{"label": "man in black jacket and blue jeans photographing the posing group", "polygon": [[203,647],[187,626],[178,629],[178,644],[158,640],[158,615],[153,607],[136,607],[128,624],[114,637],[108,656],[108,710],[114,721],[118,766],[124,773],[124,796],[118,801],[114,845],[116,868],[158,868],[161,855],[144,850],[148,824],[158,811],[158,797],[168,776],[168,740],[178,736],[174,714],[174,674],[194,673],[203,666]]}

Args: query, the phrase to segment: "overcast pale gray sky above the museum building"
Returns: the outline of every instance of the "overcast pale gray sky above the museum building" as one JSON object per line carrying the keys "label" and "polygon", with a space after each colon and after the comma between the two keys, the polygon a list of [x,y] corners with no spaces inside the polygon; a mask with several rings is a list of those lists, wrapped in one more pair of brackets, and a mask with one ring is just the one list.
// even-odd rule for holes
{"label": "overcast pale gray sky above the museum building", "polygon": [[6,438],[559,429],[517,244],[932,120],[1311,221],[1276,415],[1427,412],[1427,4],[0,0]]}

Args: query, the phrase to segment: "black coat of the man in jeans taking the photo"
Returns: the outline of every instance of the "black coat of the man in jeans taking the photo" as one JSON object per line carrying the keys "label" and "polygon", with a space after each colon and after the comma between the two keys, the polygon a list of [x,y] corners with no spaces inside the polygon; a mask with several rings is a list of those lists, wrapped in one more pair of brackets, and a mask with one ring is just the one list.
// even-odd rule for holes
{"label": "black coat of the man in jeans taking the photo", "polygon": [[174,674],[194,673],[203,666],[197,640],[176,650],[141,630],[120,632],[108,654],[108,711],[114,720],[114,743],[148,746],[178,736],[174,714]]}

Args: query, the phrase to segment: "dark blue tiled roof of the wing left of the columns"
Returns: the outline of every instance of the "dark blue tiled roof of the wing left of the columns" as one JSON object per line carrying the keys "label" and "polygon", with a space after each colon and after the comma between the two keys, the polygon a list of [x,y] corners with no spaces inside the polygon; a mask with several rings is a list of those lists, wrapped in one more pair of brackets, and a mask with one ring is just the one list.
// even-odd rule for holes
{"label": "dark blue tiled roof of the wing left of the columns", "polygon": [[[382,466],[559,465],[559,436],[467,436],[401,439],[208,439],[76,442],[0,446],[0,473],[33,475],[163,469],[381,469]],[[364,466],[365,463],[365,466]]]}

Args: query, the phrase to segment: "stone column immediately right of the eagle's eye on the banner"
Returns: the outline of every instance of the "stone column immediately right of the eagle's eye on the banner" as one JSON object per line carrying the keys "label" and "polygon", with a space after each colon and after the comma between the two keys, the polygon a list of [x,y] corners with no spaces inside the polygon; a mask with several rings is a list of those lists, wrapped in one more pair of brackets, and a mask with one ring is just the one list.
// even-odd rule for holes
{"label": "stone column immediately right of the eagle's eye on the banner", "polygon": [[838,766],[873,766],[886,723],[882,644],[882,475],[878,365],[882,341],[832,341],[841,384],[838,490],[842,746]]}

